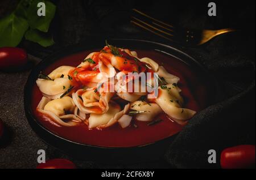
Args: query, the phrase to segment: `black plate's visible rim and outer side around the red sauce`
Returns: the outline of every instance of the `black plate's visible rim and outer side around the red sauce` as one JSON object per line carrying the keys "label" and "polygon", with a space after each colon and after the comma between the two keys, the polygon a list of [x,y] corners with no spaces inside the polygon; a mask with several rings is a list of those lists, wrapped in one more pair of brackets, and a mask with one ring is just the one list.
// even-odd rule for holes
{"label": "black plate's visible rim and outer side around the red sauce", "polygon": [[[24,88],[24,109],[26,112],[26,117],[32,129],[49,145],[60,149],[64,153],[71,155],[74,158],[78,158],[81,160],[94,160],[94,161],[105,161],[105,162],[138,162],[138,161],[147,161],[147,160],[157,160],[162,157],[168,145],[175,139],[175,136],[170,136],[169,138],[159,140],[158,142],[137,146],[137,147],[129,147],[129,148],[107,148],[107,147],[97,147],[88,144],[80,144],[76,142],[72,142],[71,140],[67,140],[61,138],[53,134],[53,132],[47,130],[44,126],[40,124],[39,121],[36,120],[34,114],[32,113],[31,108],[31,94],[32,87],[35,84],[36,79],[38,78],[38,74],[47,66],[51,65],[51,63],[57,61],[58,59],[65,57],[70,54],[79,53],[84,50],[90,49],[100,49],[104,46],[105,40],[98,39],[93,41],[88,41],[85,43],[77,44],[69,46],[60,52],[50,55],[43,61],[41,61],[32,71],[30,76],[28,76],[28,80],[26,86]],[[196,70],[196,72],[200,75],[200,77],[205,78],[207,84],[211,91],[211,100],[209,104],[212,104],[216,101],[219,96],[220,91],[218,91],[218,85],[216,80],[205,70],[203,66],[200,65],[195,59],[193,59],[188,54],[181,52],[180,50],[173,48],[172,46],[160,44],[158,42],[144,41],[144,40],[127,40],[127,39],[113,39],[110,40],[111,44],[117,45],[119,47],[126,47],[131,49],[153,49],[158,52],[162,52],[166,55],[171,55],[184,63],[187,63],[191,68]]]}

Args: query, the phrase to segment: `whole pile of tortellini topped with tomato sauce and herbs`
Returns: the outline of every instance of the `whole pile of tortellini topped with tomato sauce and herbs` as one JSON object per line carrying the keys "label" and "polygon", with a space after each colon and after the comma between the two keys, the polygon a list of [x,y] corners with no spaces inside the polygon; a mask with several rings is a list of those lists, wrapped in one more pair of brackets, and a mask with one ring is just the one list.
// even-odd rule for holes
{"label": "whole pile of tortellini topped with tomato sauce and herbs", "polygon": [[[57,126],[85,123],[88,128],[102,129],[118,122],[126,128],[133,121],[154,121],[162,112],[183,124],[196,113],[182,108],[181,89],[177,87],[180,79],[150,58],[140,59],[129,49],[107,45],[85,59],[77,67],[60,66],[36,80],[43,94],[37,110]],[[156,72],[158,77],[146,74],[143,82],[144,72]],[[162,82],[156,83],[159,79]],[[105,91],[106,87],[114,91]],[[147,96],[156,89],[156,98]]]}

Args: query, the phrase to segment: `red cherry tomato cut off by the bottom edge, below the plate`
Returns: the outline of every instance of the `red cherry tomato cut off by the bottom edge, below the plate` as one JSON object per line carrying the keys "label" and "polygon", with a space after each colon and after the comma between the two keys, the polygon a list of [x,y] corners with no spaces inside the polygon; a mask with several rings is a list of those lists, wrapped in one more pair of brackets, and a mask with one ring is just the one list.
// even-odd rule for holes
{"label": "red cherry tomato cut off by the bottom edge, below the plate", "polygon": [[76,165],[64,158],[55,158],[39,164],[36,169],[76,169]]}

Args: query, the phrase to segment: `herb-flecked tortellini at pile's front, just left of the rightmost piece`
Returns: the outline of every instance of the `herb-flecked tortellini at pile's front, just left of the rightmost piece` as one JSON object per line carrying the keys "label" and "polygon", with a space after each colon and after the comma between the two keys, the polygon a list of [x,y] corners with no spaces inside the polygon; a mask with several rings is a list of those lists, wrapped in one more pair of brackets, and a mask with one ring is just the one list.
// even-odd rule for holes
{"label": "herb-flecked tortellini at pile's front, just left of the rightmost piece", "polygon": [[131,104],[132,110],[137,110],[139,113],[136,115],[138,121],[153,121],[156,115],[162,112],[162,109],[156,103],[147,103],[145,101],[135,101]]}

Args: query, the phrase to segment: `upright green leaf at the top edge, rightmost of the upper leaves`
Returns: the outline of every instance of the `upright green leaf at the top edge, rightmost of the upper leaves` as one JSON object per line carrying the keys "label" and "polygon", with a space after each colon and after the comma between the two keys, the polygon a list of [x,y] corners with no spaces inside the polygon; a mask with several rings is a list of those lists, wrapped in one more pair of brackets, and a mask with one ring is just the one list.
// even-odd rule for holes
{"label": "upright green leaf at the top edge, rightmost of the upper leaves", "polygon": [[[46,16],[38,16],[38,3],[43,2],[46,5]],[[52,2],[44,0],[35,0],[28,8],[27,17],[28,24],[32,29],[48,32],[49,25],[55,15],[56,6]]]}

